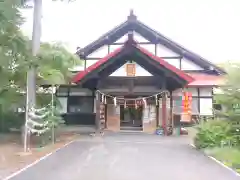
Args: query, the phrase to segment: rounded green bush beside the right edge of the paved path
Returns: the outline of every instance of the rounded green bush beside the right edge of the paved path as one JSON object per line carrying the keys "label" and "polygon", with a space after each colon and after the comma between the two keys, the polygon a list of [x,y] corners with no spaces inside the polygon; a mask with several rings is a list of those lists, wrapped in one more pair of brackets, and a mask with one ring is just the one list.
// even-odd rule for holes
{"label": "rounded green bush beside the right edge of the paved path", "polygon": [[209,120],[198,126],[194,144],[198,149],[219,147],[229,141],[231,126],[228,121]]}

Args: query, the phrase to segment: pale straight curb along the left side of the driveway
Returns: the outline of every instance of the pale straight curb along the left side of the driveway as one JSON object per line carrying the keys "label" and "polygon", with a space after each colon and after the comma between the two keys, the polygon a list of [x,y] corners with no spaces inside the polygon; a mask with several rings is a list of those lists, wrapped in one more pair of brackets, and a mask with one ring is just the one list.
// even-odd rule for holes
{"label": "pale straight curb along the left side of the driveway", "polygon": [[52,152],[46,154],[45,156],[43,156],[43,157],[41,157],[41,158],[35,160],[33,163],[28,164],[28,165],[25,166],[24,168],[22,168],[22,169],[20,169],[20,170],[18,170],[18,171],[16,171],[16,172],[14,172],[13,174],[11,174],[11,175],[5,177],[3,180],[10,180],[11,178],[13,178],[13,177],[19,175],[20,173],[26,171],[28,168],[30,168],[30,167],[32,167],[32,166],[38,164],[38,163],[41,162],[42,160],[44,160],[44,159],[48,158],[49,156],[53,155],[54,153],[58,152],[59,150],[65,148],[65,147],[67,147],[67,146],[69,146],[70,144],[72,144],[72,143],[75,142],[75,141],[76,141],[76,140],[72,140],[72,141],[66,143],[64,146],[55,149],[54,151],[52,151]]}

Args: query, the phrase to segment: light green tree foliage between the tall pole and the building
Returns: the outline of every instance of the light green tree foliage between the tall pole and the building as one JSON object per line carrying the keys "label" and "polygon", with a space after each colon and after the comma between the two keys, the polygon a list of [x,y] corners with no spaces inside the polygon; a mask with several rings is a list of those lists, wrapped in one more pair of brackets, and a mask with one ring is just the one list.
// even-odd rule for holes
{"label": "light green tree foliage between the tall pole and the building", "polygon": [[70,71],[79,65],[78,57],[71,54],[60,43],[43,43],[37,56],[38,84],[68,84],[73,74]]}

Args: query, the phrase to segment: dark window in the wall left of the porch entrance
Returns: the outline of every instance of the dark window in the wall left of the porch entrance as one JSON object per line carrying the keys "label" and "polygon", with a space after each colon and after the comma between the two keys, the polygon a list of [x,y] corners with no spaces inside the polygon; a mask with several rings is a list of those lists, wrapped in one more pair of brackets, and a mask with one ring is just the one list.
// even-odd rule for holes
{"label": "dark window in the wall left of the porch entrance", "polygon": [[93,113],[93,97],[70,96],[68,98],[68,112]]}

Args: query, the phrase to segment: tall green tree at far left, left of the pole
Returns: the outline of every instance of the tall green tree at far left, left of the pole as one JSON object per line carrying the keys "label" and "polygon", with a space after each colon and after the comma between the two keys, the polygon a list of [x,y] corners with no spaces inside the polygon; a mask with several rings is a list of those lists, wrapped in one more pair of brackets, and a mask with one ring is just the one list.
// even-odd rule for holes
{"label": "tall green tree at far left, left of the pole", "polygon": [[20,31],[23,18],[17,7],[14,0],[0,1],[1,105],[17,100],[17,92],[25,87],[25,72],[32,59],[28,39]]}

